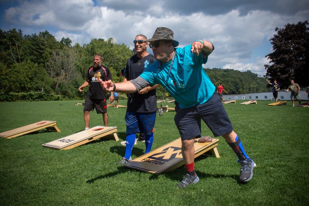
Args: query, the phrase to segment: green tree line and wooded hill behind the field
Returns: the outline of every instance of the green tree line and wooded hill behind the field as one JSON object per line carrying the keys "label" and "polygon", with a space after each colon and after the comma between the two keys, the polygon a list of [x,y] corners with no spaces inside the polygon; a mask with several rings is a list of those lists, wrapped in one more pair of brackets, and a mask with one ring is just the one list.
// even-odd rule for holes
{"label": "green tree line and wooded hill behind the field", "polygon": [[[80,93],[78,87],[85,81],[95,53],[103,55],[103,65],[110,69],[114,82],[122,80],[120,70],[134,54],[129,46],[118,44],[113,38],[92,39],[89,44],[72,46],[69,38],[57,41],[48,31],[24,35],[15,28],[0,29],[0,43],[2,102],[84,99],[87,88]],[[270,91],[265,78],[251,71],[218,68],[205,68],[205,71],[216,87],[222,82],[230,94]],[[267,75],[272,76],[270,70]],[[157,97],[162,98],[162,94],[163,88],[159,87]]]}

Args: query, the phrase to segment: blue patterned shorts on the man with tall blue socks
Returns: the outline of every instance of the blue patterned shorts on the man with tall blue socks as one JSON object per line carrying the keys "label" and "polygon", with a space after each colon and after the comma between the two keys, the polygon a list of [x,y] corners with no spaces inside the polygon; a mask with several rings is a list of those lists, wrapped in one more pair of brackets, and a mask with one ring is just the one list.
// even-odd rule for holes
{"label": "blue patterned shorts on the man with tall blue socks", "polygon": [[127,111],[125,114],[125,123],[127,124],[127,134],[145,133],[150,135],[155,127],[155,116],[157,112],[140,113]]}

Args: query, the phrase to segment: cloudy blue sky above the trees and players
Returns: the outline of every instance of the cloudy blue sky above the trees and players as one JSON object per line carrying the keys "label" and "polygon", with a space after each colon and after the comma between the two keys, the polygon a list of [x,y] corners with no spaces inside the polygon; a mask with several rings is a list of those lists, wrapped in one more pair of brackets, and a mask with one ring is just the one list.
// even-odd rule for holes
{"label": "cloudy blue sky above the trees and players", "polygon": [[309,20],[308,0],[0,0],[0,10],[3,31],[48,30],[72,45],[113,37],[133,48],[137,34],[150,38],[156,27],[169,27],[180,47],[197,39],[214,44],[205,68],[258,75],[265,74],[275,28]]}

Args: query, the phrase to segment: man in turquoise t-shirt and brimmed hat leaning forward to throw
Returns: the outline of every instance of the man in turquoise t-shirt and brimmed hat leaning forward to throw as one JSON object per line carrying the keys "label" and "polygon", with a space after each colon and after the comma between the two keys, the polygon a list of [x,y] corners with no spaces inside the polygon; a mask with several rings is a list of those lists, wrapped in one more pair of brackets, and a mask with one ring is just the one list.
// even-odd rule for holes
{"label": "man in turquoise t-shirt and brimmed hat leaning forward to throw", "polygon": [[124,93],[139,91],[147,85],[166,85],[166,90],[180,107],[174,120],[181,136],[187,174],[178,187],[187,187],[199,181],[194,171],[194,139],[201,135],[199,118],[215,137],[222,136],[234,150],[241,165],[239,179],[241,182],[249,181],[256,165],[245,153],[220,97],[215,94],[215,86],[202,67],[214,50],[213,44],[206,40],[196,40],[184,48],[176,48],[179,43],[173,35],[171,29],[158,27],[153,37],[146,40],[150,42],[149,46],[157,61],[134,80],[115,84],[108,80],[101,82],[101,85],[107,91]]}

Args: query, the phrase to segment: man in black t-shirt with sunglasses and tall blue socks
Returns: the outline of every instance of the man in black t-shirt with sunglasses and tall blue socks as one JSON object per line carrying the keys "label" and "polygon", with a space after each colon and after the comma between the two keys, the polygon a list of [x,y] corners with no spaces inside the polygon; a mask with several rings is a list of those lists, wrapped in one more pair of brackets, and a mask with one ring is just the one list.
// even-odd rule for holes
{"label": "man in black t-shirt with sunglasses and tall blue socks", "polygon": [[[130,57],[124,70],[124,82],[137,78],[148,65],[155,61],[155,57],[146,50],[148,42],[147,37],[139,34],[133,40],[136,54]],[[127,102],[127,112],[125,122],[127,125],[125,156],[118,164],[125,164],[131,160],[133,145],[135,144],[135,134],[145,134],[146,152],[151,150],[154,139],[155,116],[157,113],[156,91],[159,85],[147,86],[139,92],[129,93]]]}

